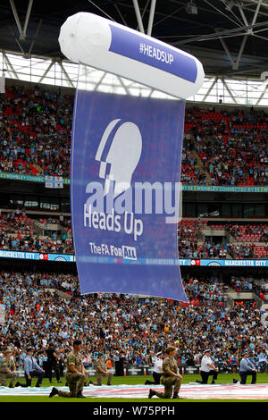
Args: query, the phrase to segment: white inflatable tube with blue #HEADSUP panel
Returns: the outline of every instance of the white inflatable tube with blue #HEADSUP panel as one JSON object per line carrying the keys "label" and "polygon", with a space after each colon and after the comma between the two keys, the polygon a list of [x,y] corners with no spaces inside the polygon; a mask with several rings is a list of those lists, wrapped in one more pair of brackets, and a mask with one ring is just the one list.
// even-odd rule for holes
{"label": "white inflatable tube with blue #HEADSUP panel", "polygon": [[63,55],[173,97],[194,96],[204,81],[193,55],[93,13],[76,13],[59,35]]}

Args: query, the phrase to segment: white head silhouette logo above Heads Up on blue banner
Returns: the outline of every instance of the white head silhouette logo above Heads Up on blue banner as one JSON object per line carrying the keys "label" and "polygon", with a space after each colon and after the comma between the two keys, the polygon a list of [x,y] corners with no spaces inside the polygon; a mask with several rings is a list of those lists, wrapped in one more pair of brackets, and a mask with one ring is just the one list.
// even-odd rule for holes
{"label": "white head silhouette logo above Heads Up on blue banner", "polygon": [[105,195],[111,181],[114,182],[114,197],[130,188],[141,150],[142,138],[136,124],[118,119],[107,125],[96,151],[99,176],[105,179]]}

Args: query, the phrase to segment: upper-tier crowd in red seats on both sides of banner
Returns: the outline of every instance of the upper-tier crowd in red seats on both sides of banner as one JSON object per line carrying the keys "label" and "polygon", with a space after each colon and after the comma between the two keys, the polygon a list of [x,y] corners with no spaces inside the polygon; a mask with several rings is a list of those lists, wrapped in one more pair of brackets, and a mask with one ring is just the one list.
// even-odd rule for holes
{"label": "upper-tier crowd in red seats on both sides of banner", "polygon": [[[70,177],[74,97],[37,85],[6,88],[0,97],[0,171]],[[268,185],[268,114],[186,109],[181,182]]]}

